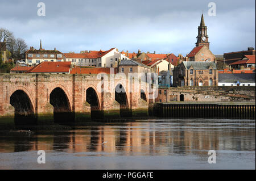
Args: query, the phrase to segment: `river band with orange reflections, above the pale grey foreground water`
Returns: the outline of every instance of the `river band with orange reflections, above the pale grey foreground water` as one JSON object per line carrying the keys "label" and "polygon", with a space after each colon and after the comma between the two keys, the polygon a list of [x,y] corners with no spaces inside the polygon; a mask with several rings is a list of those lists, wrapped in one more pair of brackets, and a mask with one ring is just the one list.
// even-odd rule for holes
{"label": "river band with orange reflections, above the pale grey foreground water", "polygon": [[[102,142],[108,141],[102,145]],[[255,122],[151,120],[0,137],[0,153],[51,150],[84,155],[205,155],[208,150],[255,150]],[[1,154],[0,154],[1,158]]]}

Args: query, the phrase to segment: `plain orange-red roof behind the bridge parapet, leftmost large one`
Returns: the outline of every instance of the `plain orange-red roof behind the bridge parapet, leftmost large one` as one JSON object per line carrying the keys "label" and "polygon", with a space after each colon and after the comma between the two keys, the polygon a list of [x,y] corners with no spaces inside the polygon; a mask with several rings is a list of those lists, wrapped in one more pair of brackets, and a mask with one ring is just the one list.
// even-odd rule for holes
{"label": "plain orange-red roof behind the bridge parapet, leftmost large one", "polygon": [[42,62],[34,68],[27,71],[27,73],[55,73],[55,72],[69,72],[71,62]]}

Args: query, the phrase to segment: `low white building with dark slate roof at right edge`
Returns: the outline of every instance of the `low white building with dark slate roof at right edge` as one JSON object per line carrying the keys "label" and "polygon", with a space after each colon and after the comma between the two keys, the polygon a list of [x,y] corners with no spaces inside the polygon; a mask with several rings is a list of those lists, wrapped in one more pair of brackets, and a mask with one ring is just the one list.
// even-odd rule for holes
{"label": "low white building with dark slate roof at right edge", "polygon": [[218,86],[255,86],[255,73],[218,74]]}

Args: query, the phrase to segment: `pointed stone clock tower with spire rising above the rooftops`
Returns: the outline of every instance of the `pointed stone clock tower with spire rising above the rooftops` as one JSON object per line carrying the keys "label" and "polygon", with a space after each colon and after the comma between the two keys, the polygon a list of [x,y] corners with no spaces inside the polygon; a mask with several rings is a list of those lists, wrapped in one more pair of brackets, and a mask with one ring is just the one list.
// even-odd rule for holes
{"label": "pointed stone clock tower with spire rising above the rooftops", "polygon": [[202,45],[206,45],[209,48],[209,42],[208,42],[208,35],[207,35],[207,26],[204,24],[204,15],[201,16],[201,23],[198,27],[198,35],[196,37],[196,47],[200,47]]}

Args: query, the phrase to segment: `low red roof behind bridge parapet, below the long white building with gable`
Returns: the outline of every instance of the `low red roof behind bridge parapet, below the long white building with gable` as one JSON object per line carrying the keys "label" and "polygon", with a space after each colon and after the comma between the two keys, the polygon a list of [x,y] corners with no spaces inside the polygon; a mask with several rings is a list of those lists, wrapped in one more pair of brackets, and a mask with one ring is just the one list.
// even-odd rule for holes
{"label": "low red roof behind bridge parapet, below the long white building with gable", "polygon": [[[70,72],[71,74],[99,74],[106,73],[110,74],[110,68],[73,68]],[[117,73],[117,68],[114,69],[114,74]]]}

